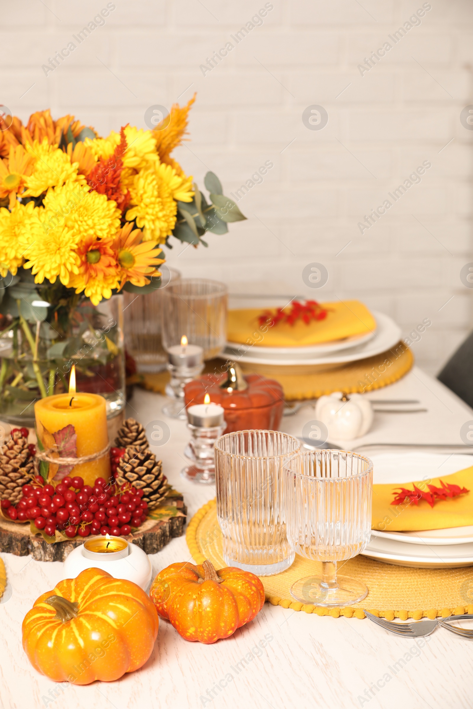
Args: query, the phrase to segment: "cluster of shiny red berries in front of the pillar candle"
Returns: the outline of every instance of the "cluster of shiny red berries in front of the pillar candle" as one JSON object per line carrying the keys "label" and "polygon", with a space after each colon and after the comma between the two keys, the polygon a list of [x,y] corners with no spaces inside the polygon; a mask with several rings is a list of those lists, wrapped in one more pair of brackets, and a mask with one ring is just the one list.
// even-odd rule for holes
{"label": "cluster of shiny red berries in front of the pillar candle", "polygon": [[92,488],[79,476],[65,477],[56,486],[43,483],[43,478],[36,476],[33,484],[23,485],[23,497],[16,506],[2,500],[4,513],[11,520],[33,520],[50,536],[60,530],[71,538],[90,534],[123,537],[146,519],[148,503],[141,499],[143,490],[129,483],[118,488],[97,478]]}

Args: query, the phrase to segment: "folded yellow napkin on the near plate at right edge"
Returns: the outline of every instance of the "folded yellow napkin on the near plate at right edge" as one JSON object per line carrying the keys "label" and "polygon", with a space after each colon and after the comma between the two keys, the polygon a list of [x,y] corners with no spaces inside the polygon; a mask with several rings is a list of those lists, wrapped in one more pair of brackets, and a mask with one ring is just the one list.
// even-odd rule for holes
{"label": "folded yellow napkin on the near plate at right edge", "polygon": [[445,484],[465,487],[470,492],[446,500],[437,499],[433,507],[426,500],[419,500],[417,506],[413,503],[391,505],[394,489],[405,487],[413,490],[413,484],[373,485],[372,529],[382,532],[421,532],[473,525],[473,466],[452,475],[419,480],[414,484],[422,491],[428,491],[427,484],[442,487],[440,480]]}

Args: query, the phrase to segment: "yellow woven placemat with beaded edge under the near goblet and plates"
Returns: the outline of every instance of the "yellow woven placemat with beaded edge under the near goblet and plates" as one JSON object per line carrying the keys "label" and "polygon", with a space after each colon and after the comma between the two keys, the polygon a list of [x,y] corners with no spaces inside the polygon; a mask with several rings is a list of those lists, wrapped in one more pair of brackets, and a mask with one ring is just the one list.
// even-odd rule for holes
{"label": "yellow woven placemat with beaded edge under the near goblet and plates", "polygon": [[[198,564],[210,559],[217,569],[227,564],[223,560],[222,532],[218,526],[216,501],[208,502],[189,522],[186,533],[187,546]],[[294,581],[317,574],[319,562],[299,557],[296,554],[290,569],[275,576],[261,576],[265,586],[266,600],[283,608],[304,610],[306,613],[331,615],[338,618],[365,618],[362,608],[387,620],[423,616],[437,618],[454,613],[473,613],[473,566],[461,569],[412,569],[375,562],[358,556],[339,563],[341,574],[352,576],[368,586],[368,595],[348,608],[316,608],[315,605],[298,603],[291,598],[289,588]],[[343,571],[341,570],[343,569]]]}

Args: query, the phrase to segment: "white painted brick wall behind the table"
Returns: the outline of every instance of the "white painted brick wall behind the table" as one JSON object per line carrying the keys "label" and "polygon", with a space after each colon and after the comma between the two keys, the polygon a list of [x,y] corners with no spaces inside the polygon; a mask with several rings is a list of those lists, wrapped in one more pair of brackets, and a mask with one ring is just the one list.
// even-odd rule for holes
{"label": "white painted brick wall behind the table", "polygon": [[[106,0],[3,3],[1,101],[24,120],[50,106],[107,133],[144,127],[148,106],[197,91],[192,143],[176,155],[189,174],[202,185],[213,169],[229,194],[265,160],[274,167],[240,200],[246,222],[209,237],[208,250],[176,244],[169,263],[233,292],[361,298],[406,334],[430,318],[413,349],[437,372],[472,326],[460,269],[473,261],[473,134],[459,119],[473,104],[471,0],[431,0],[421,26],[363,76],[357,66],[423,0],[272,0],[262,26],[205,77],[199,65],[265,0],[114,4],[45,77],[48,57]],[[311,104],[328,111],[323,130],[302,123]],[[357,222],[423,160],[432,167],[421,184],[361,235]],[[330,274],[321,291],[301,280],[315,260]]]}

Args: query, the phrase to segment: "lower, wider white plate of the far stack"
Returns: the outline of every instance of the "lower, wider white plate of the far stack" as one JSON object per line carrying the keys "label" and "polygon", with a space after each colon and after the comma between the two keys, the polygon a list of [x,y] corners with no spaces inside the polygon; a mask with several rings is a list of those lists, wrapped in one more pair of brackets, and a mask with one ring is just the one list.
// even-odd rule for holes
{"label": "lower, wider white plate of the far stack", "polygon": [[[396,345],[401,337],[401,328],[394,320],[384,313],[372,311],[377,328],[374,335],[362,344],[347,348],[344,352],[326,353],[316,357],[314,354],[301,352],[301,347],[293,347],[291,354],[269,353],[266,347],[247,347],[247,345],[227,345],[221,359],[237,359],[238,362],[249,362],[250,364],[277,364],[294,366],[295,364],[344,364],[345,362],[356,362],[358,359],[374,357],[389,350]],[[370,333],[371,334],[371,333]]]}

